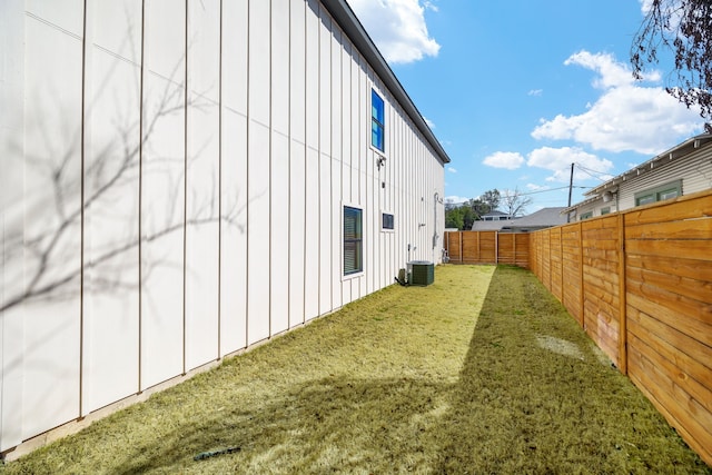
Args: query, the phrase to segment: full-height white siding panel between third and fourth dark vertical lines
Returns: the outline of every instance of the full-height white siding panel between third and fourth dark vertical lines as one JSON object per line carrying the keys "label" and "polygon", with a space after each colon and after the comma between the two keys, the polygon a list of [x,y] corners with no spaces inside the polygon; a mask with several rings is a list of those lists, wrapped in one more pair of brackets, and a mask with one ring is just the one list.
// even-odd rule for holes
{"label": "full-height white siding panel between third and fourth dark vertical lines", "polygon": [[186,199],[186,369],[218,348],[220,4],[190,0]]}

